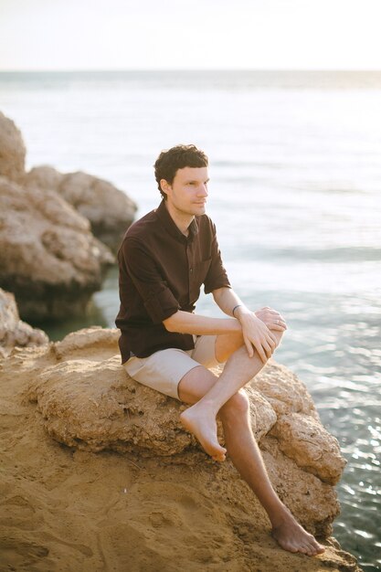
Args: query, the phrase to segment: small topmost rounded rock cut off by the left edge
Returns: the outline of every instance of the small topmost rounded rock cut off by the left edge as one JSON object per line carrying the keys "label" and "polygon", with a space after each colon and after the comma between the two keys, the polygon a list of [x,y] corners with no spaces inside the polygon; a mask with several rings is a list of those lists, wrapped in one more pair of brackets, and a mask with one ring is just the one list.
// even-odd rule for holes
{"label": "small topmost rounded rock cut off by the left edge", "polygon": [[15,123],[0,111],[0,176],[22,181],[25,176],[26,147]]}

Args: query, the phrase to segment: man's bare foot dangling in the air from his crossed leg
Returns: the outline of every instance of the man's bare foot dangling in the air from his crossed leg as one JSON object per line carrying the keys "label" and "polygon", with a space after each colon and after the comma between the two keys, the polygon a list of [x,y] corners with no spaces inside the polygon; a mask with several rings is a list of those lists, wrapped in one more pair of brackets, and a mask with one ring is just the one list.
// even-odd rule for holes
{"label": "man's bare foot dangling in the air from his crossed leg", "polygon": [[196,436],[212,459],[225,461],[227,450],[218,443],[216,418],[192,406],[181,413],[180,421],[186,430]]}

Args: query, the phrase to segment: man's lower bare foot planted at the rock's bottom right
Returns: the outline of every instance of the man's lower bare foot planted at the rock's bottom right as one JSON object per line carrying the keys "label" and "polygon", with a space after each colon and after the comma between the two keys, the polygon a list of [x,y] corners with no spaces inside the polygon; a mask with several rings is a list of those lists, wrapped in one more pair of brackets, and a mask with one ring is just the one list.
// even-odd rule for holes
{"label": "man's lower bare foot planted at the rock's bottom right", "polygon": [[317,556],[325,550],[314,536],[310,535],[298,524],[292,514],[286,515],[277,526],[273,526],[271,535],[278,544],[289,552],[301,552],[307,556]]}

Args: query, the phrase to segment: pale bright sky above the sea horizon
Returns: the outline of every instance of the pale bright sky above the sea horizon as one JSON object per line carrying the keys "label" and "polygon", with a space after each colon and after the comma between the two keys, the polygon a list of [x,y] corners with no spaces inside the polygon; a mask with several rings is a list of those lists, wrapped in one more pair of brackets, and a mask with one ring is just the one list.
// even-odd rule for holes
{"label": "pale bright sky above the sea horizon", "polygon": [[0,70],[381,69],[381,0],[0,0]]}

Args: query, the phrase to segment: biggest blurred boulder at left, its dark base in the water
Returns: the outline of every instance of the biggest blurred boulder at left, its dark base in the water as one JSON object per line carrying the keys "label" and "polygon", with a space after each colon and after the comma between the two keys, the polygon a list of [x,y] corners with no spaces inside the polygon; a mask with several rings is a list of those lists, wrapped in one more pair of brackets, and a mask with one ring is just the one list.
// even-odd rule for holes
{"label": "biggest blurred boulder at left, its dark base in the water", "polygon": [[21,317],[84,312],[112,262],[89,221],[60,196],[0,177],[0,286],[15,293]]}

